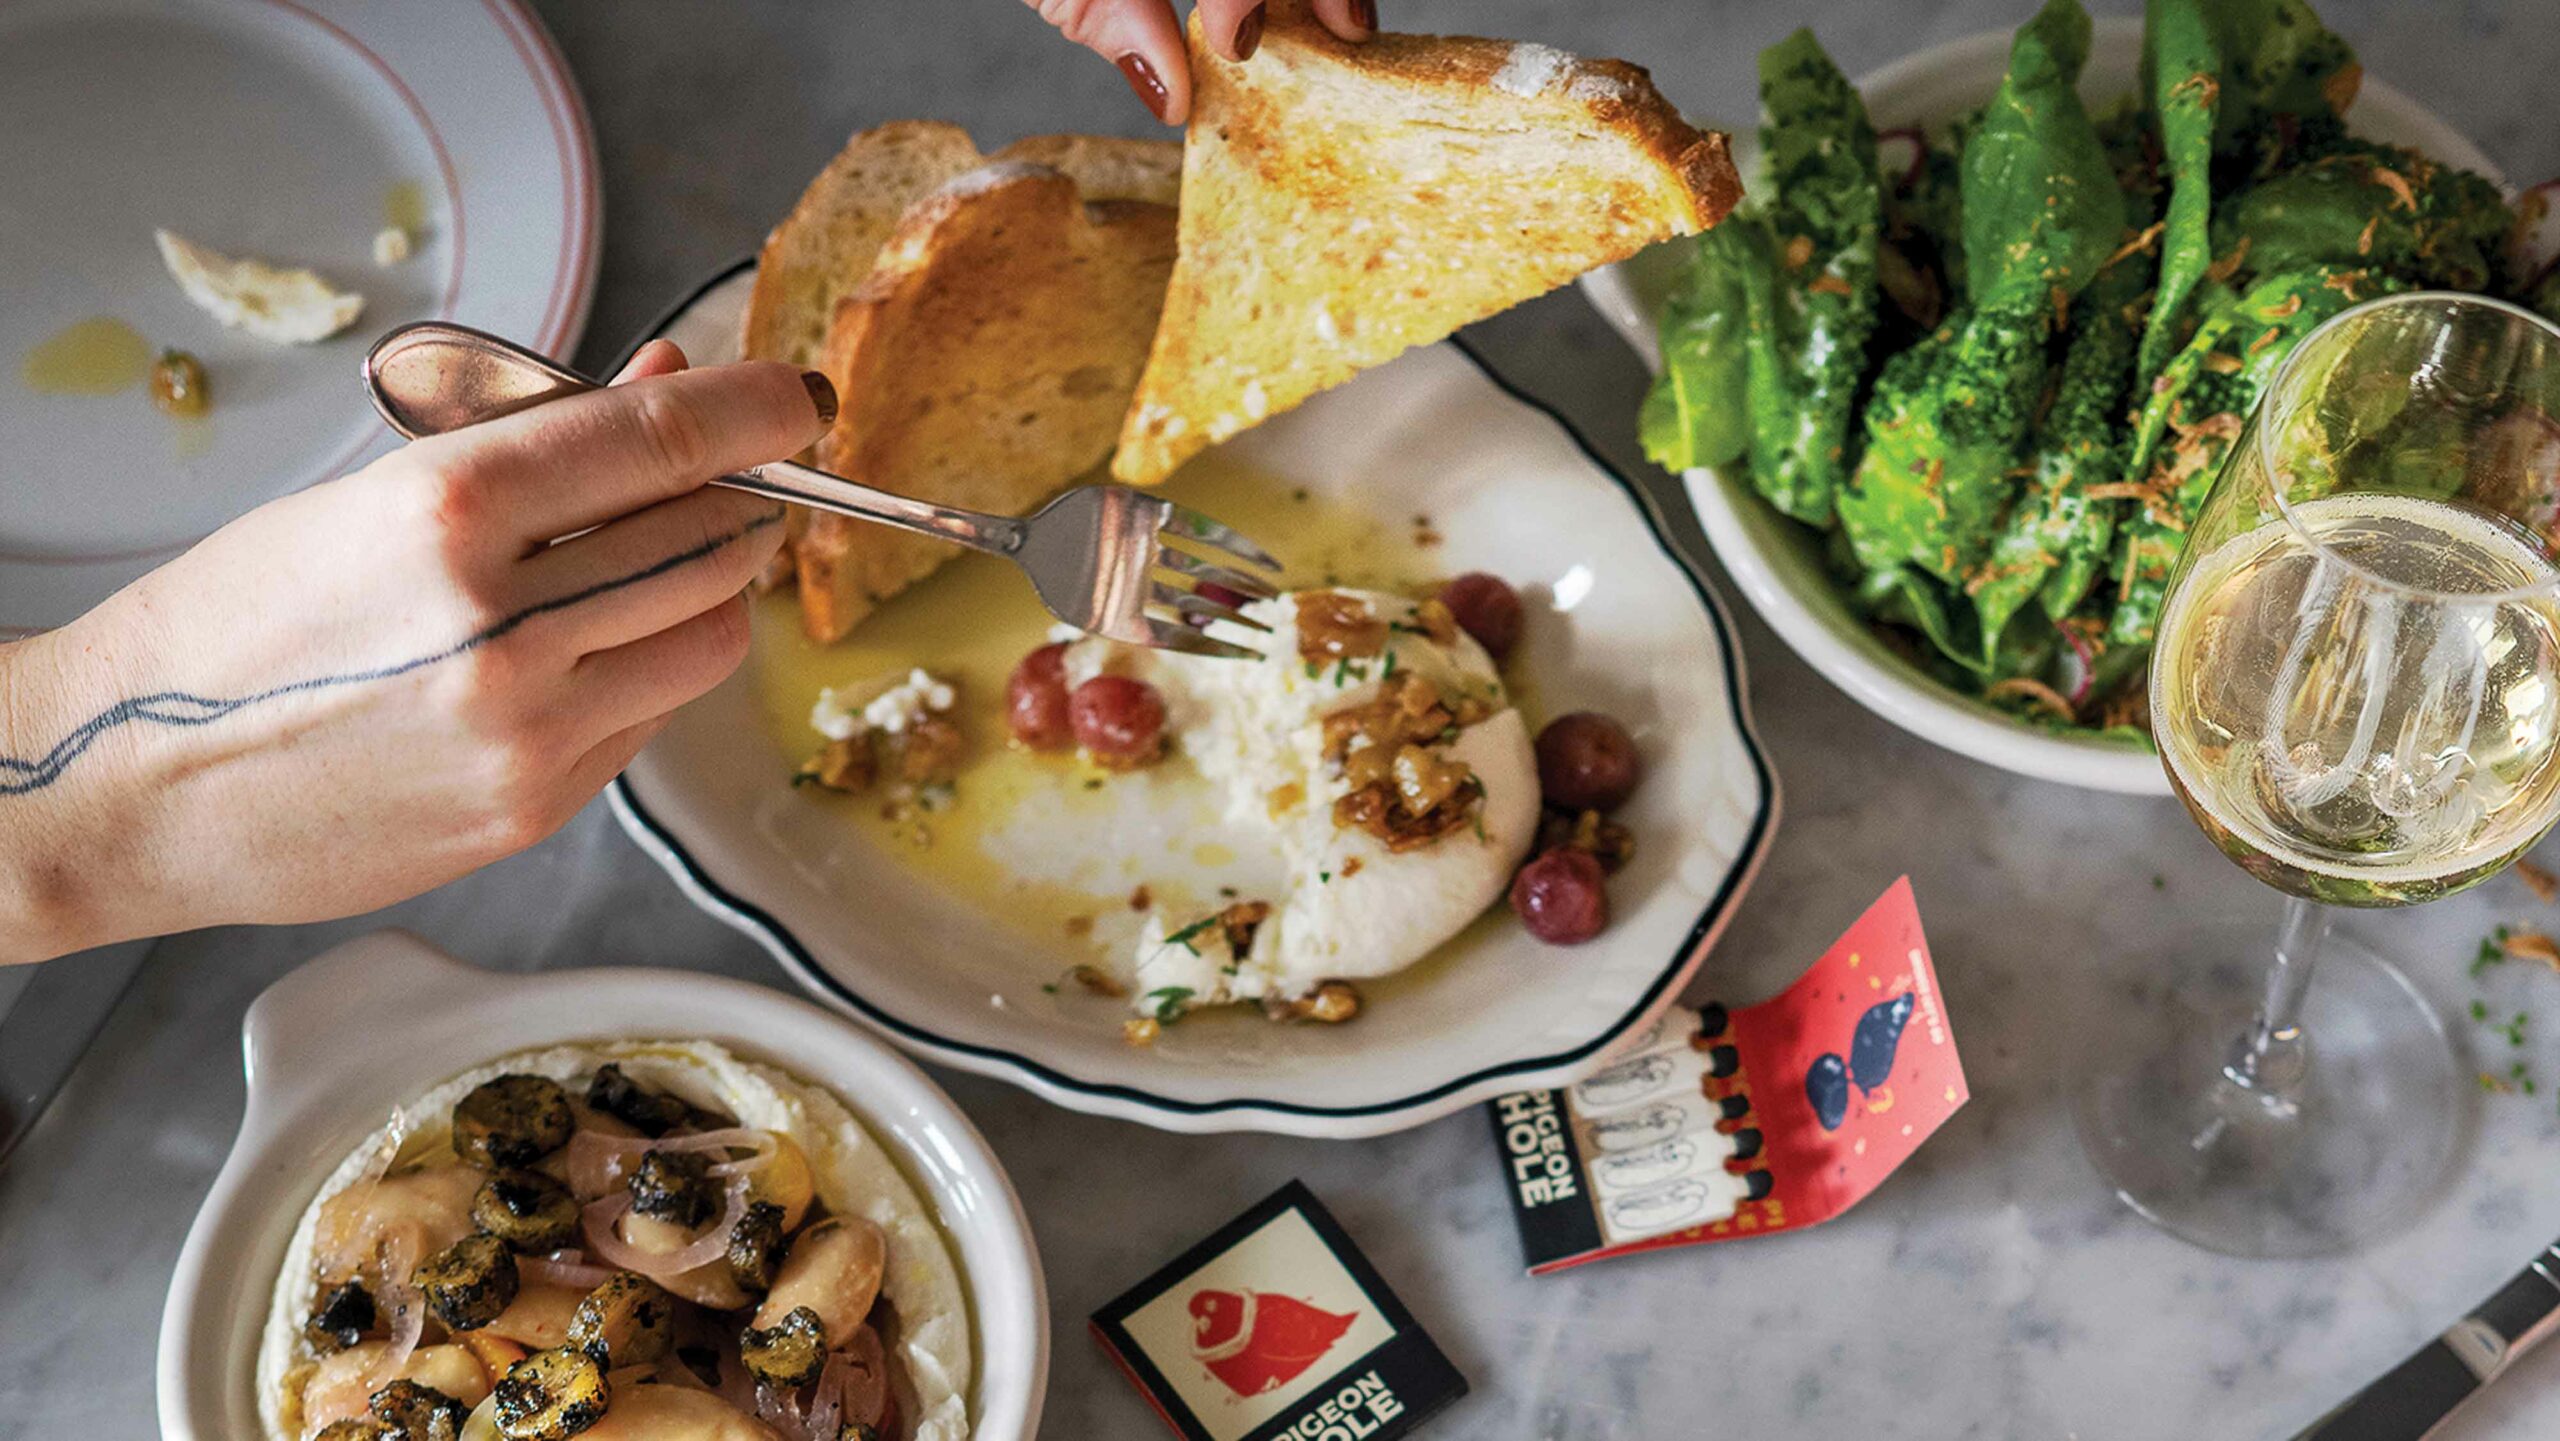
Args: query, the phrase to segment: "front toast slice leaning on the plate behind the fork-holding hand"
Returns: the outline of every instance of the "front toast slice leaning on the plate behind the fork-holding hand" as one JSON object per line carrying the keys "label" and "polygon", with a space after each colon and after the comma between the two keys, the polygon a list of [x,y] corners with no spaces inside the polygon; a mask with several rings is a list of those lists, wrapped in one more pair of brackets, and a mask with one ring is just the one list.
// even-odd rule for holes
{"label": "front toast slice leaning on the plate behind the fork-holding hand", "polygon": [[[1065,174],[993,161],[916,202],[837,305],[842,412],[817,463],[886,491],[1024,514],[1111,453],[1147,363],[1175,212],[1085,202]],[[837,640],[960,550],[812,514],[801,622]]]}

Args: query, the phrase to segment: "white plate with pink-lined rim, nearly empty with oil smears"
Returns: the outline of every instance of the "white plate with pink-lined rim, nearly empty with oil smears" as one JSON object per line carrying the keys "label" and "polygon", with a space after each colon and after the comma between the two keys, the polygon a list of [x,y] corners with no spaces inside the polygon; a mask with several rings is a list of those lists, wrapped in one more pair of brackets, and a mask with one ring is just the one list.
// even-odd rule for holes
{"label": "white plate with pink-lined rim, nearly empty with oil smears", "polygon": [[[0,133],[0,637],[389,450],[371,335],[451,317],[566,353],[586,325],[594,141],[520,0],[20,0]],[[361,312],[310,343],[225,325],[156,230]],[[200,363],[200,415],[154,404],[164,351]]]}

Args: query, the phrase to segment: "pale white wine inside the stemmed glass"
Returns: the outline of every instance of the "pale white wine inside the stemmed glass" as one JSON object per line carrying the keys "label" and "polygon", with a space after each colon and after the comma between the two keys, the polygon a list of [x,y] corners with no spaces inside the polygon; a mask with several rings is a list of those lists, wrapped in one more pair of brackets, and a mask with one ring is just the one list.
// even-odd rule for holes
{"label": "pale white wine inside the stemmed glass", "polygon": [[2330,494],[2225,540],[2161,617],[2171,786],[2307,901],[2409,906],[2496,875],[2560,796],[2555,581],[2537,537],[2458,499]]}

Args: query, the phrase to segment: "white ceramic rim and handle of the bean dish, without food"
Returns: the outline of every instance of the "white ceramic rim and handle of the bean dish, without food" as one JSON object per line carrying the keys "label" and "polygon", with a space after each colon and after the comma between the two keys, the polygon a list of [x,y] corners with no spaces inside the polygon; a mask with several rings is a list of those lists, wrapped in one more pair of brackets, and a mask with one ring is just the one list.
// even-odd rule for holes
{"label": "white ceramic rim and handle of the bean dish, without food", "polygon": [[497,975],[376,932],[266,988],[241,1026],[248,1111],[169,1277],[169,1441],[259,1436],[256,1357],[294,1223],[394,1106],[486,1060],[563,1042],[712,1039],[832,1090],[899,1159],[960,1257],[978,1441],[1029,1441],[1050,1380],[1050,1293],[1014,1185],[922,1070],[842,1019],[684,970]]}

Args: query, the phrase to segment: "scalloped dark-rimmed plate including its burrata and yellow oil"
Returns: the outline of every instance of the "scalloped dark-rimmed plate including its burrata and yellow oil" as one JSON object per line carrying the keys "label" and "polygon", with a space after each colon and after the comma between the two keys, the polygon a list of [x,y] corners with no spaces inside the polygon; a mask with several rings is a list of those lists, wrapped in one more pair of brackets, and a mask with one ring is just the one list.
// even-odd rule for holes
{"label": "scalloped dark-rimmed plate including its burrata and yellow oil", "polygon": [[[666,333],[696,361],[735,353],[748,282],[717,279]],[[1265,660],[1044,653],[1057,640],[1001,561],[957,561],[835,648],[768,596],[748,665],[614,786],[627,829],[814,996],[916,1055],[1178,1131],[1395,1131],[1569,1083],[1649,1026],[1748,883],[1777,783],[1718,601],[1638,494],[1459,346],[1272,417],[1167,494],[1288,566],[1298,594],[1254,607],[1277,635],[1234,635]],[[1500,665],[1480,617],[1439,601],[1462,573],[1521,601]],[[1034,653],[1062,673],[1080,755],[1016,727],[1011,676]],[[1114,686],[1165,706],[1137,768],[1085,729],[1108,729],[1083,706]],[[1431,824],[1329,791],[1359,786],[1377,737],[1318,755],[1318,722],[1405,724],[1377,709],[1390,694],[1431,717],[1411,755],[1377,752],[1446,781]],[[1531,735],[1574,712],[1623,727],[1633,791],[1549,778]],[[901,788],[927,719],[970,758]],[[865,727],[893,732],[878,788],[842,776],[845,747],[881,737]],[[1582,847],[1541,860],[1605,896],[1592,939],[1549,944],[1508,904],[1533,837]],[[1587,898],[1577,883],[1541,904]]]}

